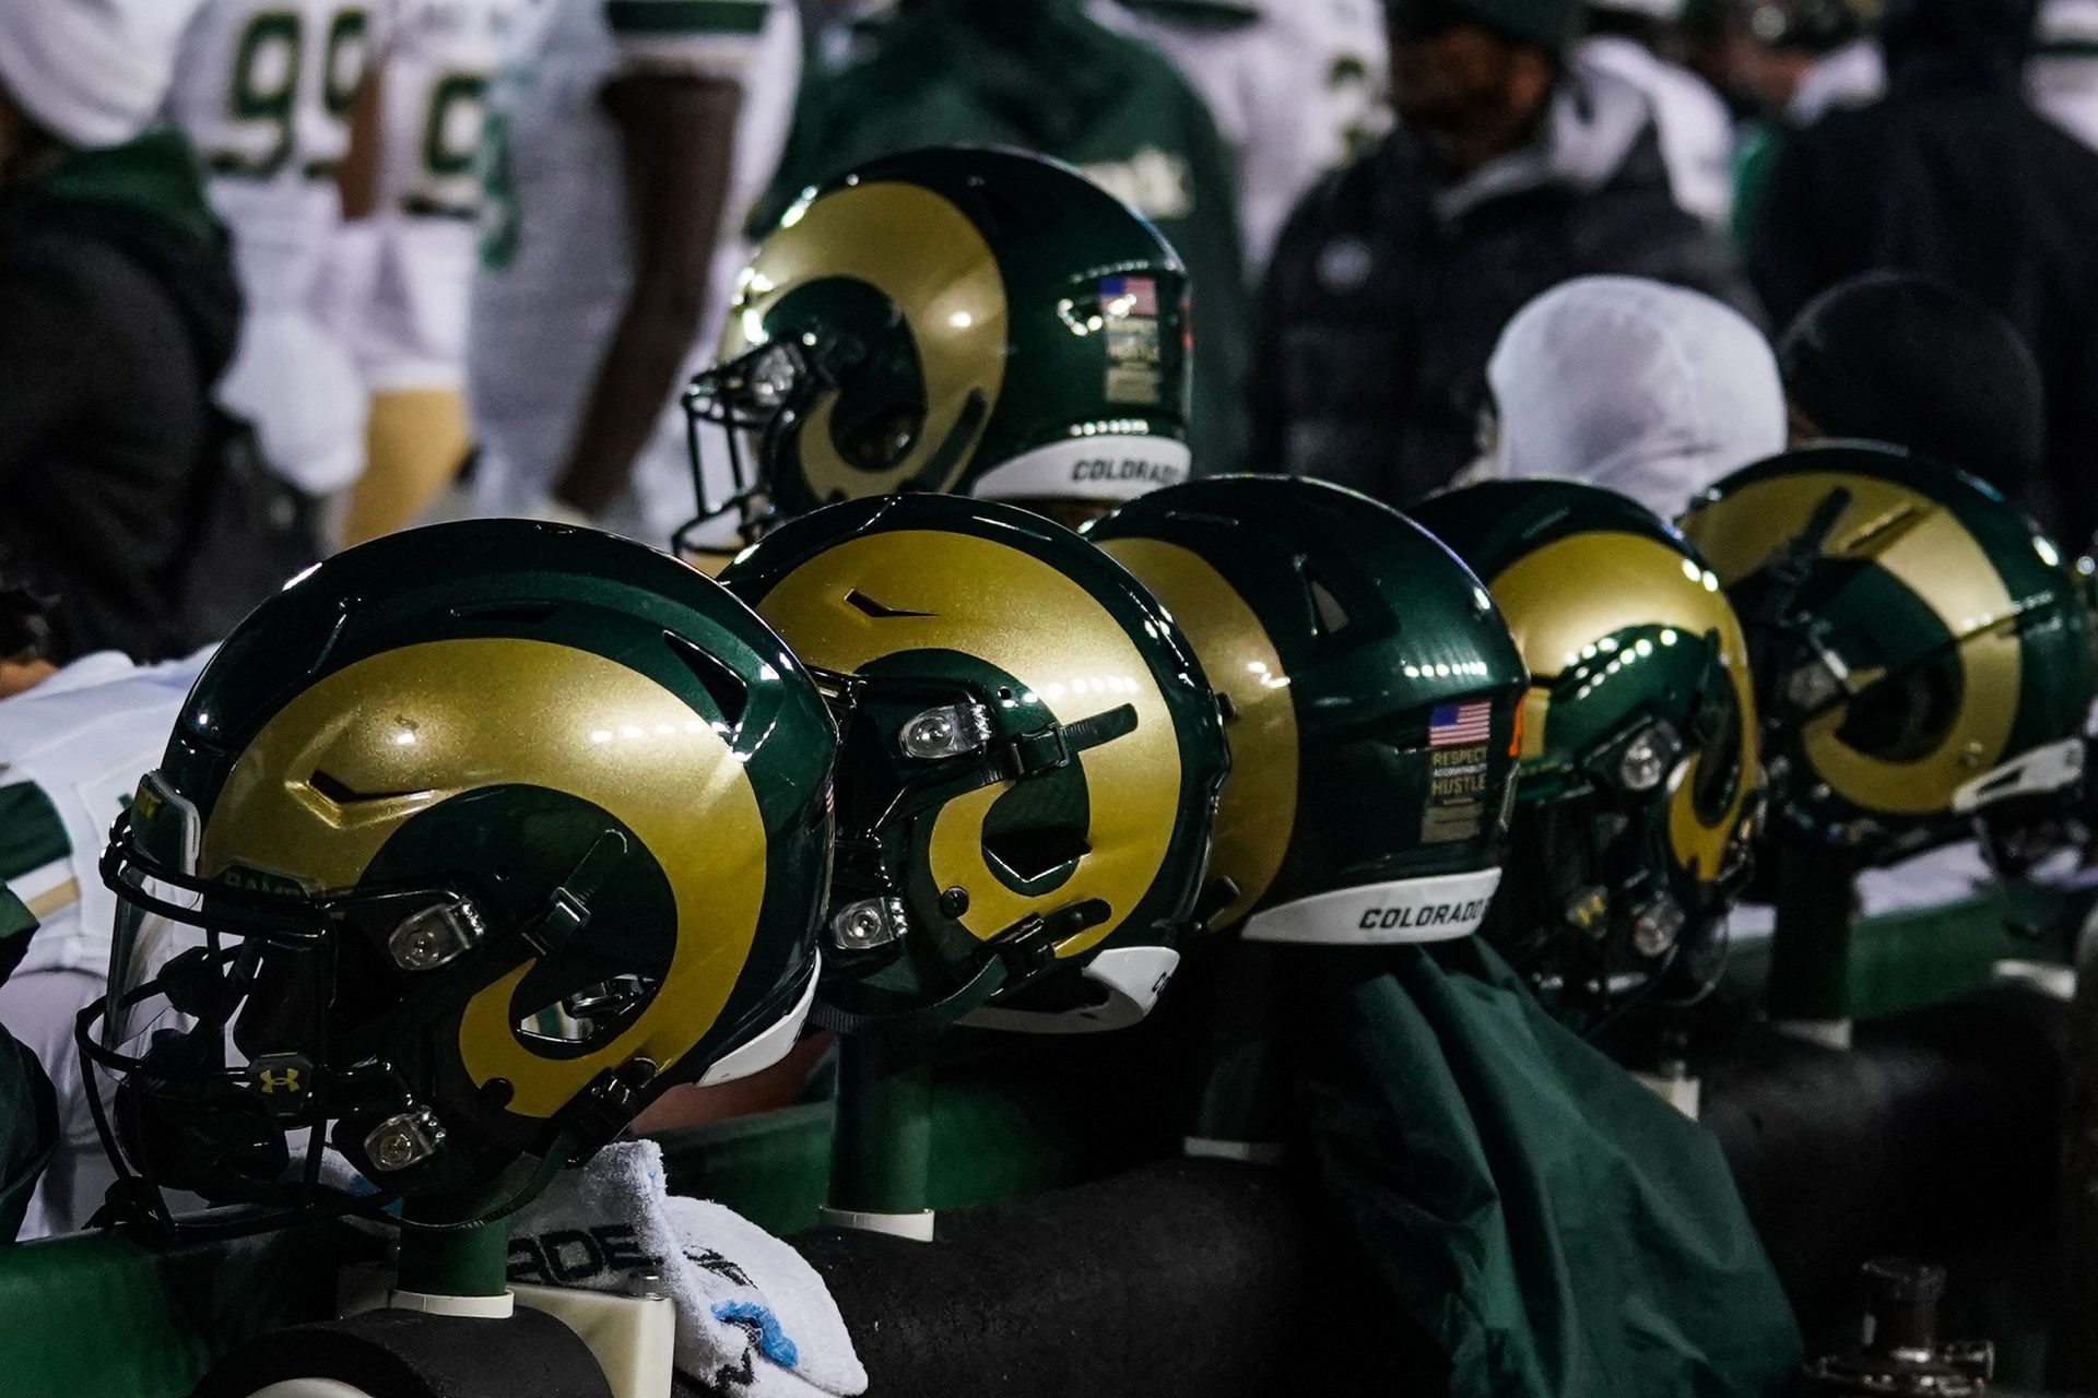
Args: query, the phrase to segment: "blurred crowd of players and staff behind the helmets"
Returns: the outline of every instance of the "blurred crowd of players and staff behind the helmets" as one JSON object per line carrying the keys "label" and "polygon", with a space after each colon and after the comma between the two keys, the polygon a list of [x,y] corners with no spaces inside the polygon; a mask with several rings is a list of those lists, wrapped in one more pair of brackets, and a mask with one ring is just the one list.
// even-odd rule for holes
{"label": "blurred crowd of players and staff behind the helmets", "polygon": [[[2094,0],[0,0],[6,585],[153,660],[418,520],[663,545],[753,237],[955,140],[1179,249],[1196,474],[1871,436],[2098,528]],[[1502,340],[1586,275],[1697,296]]]}

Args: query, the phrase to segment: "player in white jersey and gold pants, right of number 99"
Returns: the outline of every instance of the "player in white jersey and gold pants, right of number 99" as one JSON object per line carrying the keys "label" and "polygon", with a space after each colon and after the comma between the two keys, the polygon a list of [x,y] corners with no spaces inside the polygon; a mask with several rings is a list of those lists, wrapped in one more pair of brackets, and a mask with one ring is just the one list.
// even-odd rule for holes
{"label": "player in white jersey and gold pants, right of number 99", "polygon": [[[390,0],[359,107],[346,241],[350,348],[371,392],[344,547],[405,528],[472,446],[466,304],[478,262],[487,86],[522,0]],[[365,157],[363,145],[371,145]]]}

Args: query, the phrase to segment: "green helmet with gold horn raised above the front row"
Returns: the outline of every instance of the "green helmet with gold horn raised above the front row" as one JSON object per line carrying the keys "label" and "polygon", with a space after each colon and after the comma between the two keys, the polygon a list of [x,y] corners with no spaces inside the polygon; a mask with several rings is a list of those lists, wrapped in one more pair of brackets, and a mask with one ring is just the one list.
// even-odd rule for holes
{"label": "green helmet with gold horn raised above the front row", "polygon": [[1076,170],[871,161],[804,195],[736,281],[686,394],[699,520],[678,543],[908,490],[1125,501],[1187,476],[1187,272]]}

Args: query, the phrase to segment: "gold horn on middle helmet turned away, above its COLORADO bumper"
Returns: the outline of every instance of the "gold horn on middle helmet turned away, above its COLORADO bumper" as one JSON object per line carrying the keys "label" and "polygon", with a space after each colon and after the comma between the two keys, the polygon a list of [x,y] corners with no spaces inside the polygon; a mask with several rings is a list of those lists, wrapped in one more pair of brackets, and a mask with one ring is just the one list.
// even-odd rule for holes
{"label": "gold horn on middle helmet turned away, above its COLORADO bumper", "polygon": [[1101,545],[1164,604],[1194,646],[1202,673],[1232,698],[1232,776],[1217,803],[1208,872],[1238,884],[1211,918],[1236,926],[1282,872],[1297,830],[1297,704],[1276,643],[1246,599],[1194,549],[1158,539]]}

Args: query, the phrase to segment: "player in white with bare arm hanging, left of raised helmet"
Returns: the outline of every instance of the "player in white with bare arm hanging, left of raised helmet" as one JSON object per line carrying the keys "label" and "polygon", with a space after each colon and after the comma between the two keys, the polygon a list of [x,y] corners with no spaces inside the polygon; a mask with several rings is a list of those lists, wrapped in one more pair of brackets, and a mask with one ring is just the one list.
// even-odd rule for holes
{"label": "player in white with bare arm hanging, left of raised helmet", "polygon": [[527,0],[489,90],[478,514],[657,547],[690,518],[678,396],[711,361],[799,63],[793,0]]}

